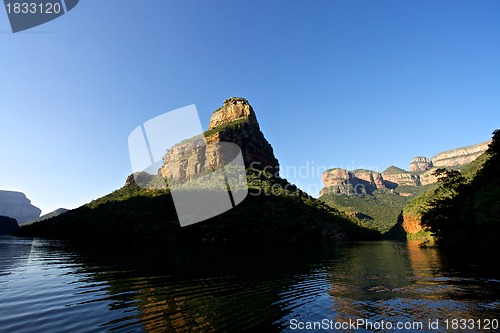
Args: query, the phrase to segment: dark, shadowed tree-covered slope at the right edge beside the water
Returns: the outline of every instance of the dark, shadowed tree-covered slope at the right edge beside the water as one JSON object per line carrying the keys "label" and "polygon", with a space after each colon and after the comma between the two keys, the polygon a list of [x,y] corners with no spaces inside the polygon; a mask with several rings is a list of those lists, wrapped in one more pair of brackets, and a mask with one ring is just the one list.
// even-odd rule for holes
{"label": "dark, shadowed tree-covered slope at the right edge beside the water", "polygon": [[[482,167],[481,167],[482,164]],[[463,172],[440,170],[422,224],[438,244],[460,252],[499,253],[500,130],[486,154]]]}

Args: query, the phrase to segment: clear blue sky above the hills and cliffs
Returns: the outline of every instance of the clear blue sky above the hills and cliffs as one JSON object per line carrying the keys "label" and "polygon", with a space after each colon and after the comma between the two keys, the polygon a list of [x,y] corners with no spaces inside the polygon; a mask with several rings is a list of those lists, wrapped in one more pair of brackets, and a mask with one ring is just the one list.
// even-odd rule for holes
{"label": "clear blue sky above the hills and cliffs", "polygon": [[[121,187],[129,133],[246,97],[282,169],[408,168],[500,127],[500,1],[82,0],[0,10],[0,189],[48,213]],[[314,168],[313,170],[315,170]],[[317,195],[320,175],[289,179]]]}

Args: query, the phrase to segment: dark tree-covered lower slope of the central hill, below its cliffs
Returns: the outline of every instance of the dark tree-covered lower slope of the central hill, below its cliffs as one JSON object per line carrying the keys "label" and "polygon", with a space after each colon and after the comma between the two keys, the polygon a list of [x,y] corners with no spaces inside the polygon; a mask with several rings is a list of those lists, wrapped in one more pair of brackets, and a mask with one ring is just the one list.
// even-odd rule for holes
{"label": "dark tree-covered lower slope of the central hill, below its cliffs", "polygon": [[374,234],[273,175],[249,169],[249,195],[235,208],[181,228],[168,190],[135,184],[80,208],[20,228],[17,235],[96,241],[315,241]]}

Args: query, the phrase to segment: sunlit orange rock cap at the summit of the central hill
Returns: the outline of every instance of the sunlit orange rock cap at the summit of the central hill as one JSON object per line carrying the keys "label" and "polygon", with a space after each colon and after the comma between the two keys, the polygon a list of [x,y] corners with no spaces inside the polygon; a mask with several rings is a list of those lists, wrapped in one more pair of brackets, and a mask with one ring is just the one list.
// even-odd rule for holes
{"label": "sunlit orange rock cap at the summit of the central hill", "polygon": [[248,100],[241,97],[231,97],[224,100],[224,105],[214,111],[208,129],[211,130],[236,120],[248,121],[259,128],[257,117]]}

